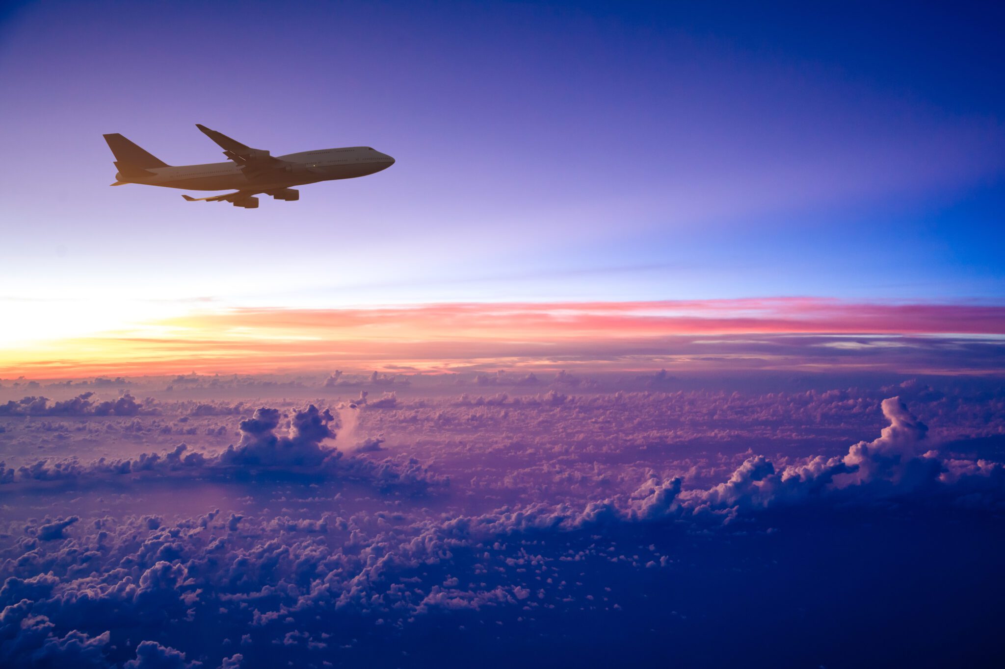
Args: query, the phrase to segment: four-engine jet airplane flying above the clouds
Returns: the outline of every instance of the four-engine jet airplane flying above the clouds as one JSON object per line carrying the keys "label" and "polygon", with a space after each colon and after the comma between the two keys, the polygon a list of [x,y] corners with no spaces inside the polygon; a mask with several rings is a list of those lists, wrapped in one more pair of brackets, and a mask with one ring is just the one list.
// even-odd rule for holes
{"label": "four-engine jet airplane flying above the clouds", "polygon": [[354,179],[376,174],[394,164],[394,158],[370,146],[345,146],[285,155],[270,155],[267,150],[251,148],[222,132],[196,123],[210,139],[223,148],[229,162],[173,166],[155,157],[118,132],[106,134],[105,140],[116,156],[116,183],[163,186],[191,191],[224,191],[209,198],[183,195],[188,202],[229,202],[234,207],[256,209],[259,194],[292,202],[300,194],[289,187]]}

